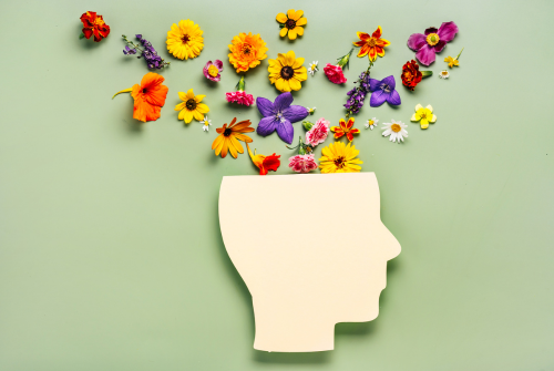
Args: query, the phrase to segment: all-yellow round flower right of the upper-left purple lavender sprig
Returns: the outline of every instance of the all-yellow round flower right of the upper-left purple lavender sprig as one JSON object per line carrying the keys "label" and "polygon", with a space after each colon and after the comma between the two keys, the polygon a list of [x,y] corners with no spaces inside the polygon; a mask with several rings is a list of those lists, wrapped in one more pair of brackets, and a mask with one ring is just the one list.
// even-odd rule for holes
{"label": "all-yellow round flower right of the upper-left purple lavender sprig", "polygon": [[173,56],[181,60],[196,58],[204,49],[204,38],[198,24],[193,21],[179,21],[178,25],[173,23],[172,29],[167,31],[167,50]]}

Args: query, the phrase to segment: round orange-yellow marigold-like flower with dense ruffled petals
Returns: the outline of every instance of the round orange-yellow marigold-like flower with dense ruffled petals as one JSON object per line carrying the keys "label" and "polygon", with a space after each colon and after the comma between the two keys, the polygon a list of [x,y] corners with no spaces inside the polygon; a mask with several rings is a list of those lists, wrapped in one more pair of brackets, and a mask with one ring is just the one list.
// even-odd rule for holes
{"label": "round orange-yellow marigold-like flower with dense ruffled petals", "polygon": [[252,32],[248,32],[248,34],[240,32],[230,41],[229,50],[229,62],[239,73],[254,69],[260,63],[259,61],[265,60],[268,49],[259,33],[253,35]]}

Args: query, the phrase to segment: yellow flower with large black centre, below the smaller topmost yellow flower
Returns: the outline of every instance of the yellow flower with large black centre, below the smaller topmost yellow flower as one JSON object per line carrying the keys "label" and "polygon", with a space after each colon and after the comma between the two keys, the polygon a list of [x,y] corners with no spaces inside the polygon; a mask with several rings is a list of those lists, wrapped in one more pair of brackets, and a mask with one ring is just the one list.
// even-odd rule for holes
{"label": "yellow flower with large black centre, below the smaller topmost yellow flower", "polygon": [[280,92],[300,90],[300,81],[308,79],[308,71],[304,64],[304,58],[296,58],[294,51],[286,54],[277,54],[276,60],[269,60],[269,81]]}

